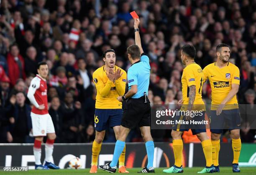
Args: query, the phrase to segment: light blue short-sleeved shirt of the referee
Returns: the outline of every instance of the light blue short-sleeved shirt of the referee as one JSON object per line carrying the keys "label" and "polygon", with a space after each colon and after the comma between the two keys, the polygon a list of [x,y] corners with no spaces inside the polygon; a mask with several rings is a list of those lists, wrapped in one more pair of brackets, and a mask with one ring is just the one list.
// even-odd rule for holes
{"label": "light blue short-sleeved shirt of the referee", "polygon": [[141,60],[133,63],[128,69],[127,78],[129,90],[132,85],[137,85],[137,93],[131,98],[139,98],[144,95],[144,92],[148,95],[149,86],[149,76],[150,76],[150,65],[149,58],[144,53],[141,54]]}

